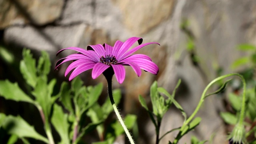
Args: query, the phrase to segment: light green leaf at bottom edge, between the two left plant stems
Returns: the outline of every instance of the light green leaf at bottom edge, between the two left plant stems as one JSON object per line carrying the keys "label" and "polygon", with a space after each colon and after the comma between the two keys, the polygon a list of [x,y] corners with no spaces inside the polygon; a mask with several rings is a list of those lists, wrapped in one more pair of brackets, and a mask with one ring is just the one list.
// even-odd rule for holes
{"label": "light green leaf at bottom edge, between the two left plant stems", "polygon": [[58,134],[60,134],[60,143],[69,144],[70,140],[68,139],[68,115],[64,114],[61,106],[54,104],[54,110],[51,121]]}

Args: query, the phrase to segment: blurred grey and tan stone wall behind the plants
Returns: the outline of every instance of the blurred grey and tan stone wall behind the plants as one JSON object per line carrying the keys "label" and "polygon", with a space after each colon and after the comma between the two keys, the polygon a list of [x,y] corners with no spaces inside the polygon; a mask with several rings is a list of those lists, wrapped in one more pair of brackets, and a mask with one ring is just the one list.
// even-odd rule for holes
{"label": "blurred grey and tan stone wall behind the plants", "polygon": [[[181,27],[181,26],[184,27]],[[138,95],[148,102],[149,88],[154,80],[172,92],[181,78],[176,99],[187,114],[196,107],[206,84],[218,74],[237,72],[230,68],[234,60],[246,53],[236,50],[241,43],[256,45],[256,1],[255,0],[0,0],[0,44],[21,57],[22,48],[49,52],[54,63],[71,54],[67,51],[56,57],[62,48],[86,48],[90,44],[125,41],[137,36],[146,42],[159,42],[161,46],[149,45],[139,53],[149,55],[160,70],[157,76],[142,72],[138,78],[132,68],[127,68],[126,79],[114,87],[121,88],[123,114],[138,115],[139,144],[153,144],[154,126],[146,111],[138,102]],[[188,51],[189,44],[194,51]],[[199,62],[193,63],[196,54]],[[18,77],[14,68],[1,59],[1,79]],[[66,65],[67,66],[67,65]],[[53,76],[63,78],[65,66]],[[86,85],[105,82],[103,76],[92,80],[91,73],[81,75]],[[106,82],[105,82],[106,84]],[[105,90],[106,91],[106,90]],[[2,110],[4,99],[0,99]],[[209,140],[214,135],[214,144],[226,141],[224,122],[218,113],[224,109],[223,98],[207,98],[198,112],[202,122],[190,132],[180,144],[190,142],[190,136]],[[172,107],[161,127],[161,134],[183,123],[181,114]],[[176,133],[168,134],[161,144],[168,143]]]}

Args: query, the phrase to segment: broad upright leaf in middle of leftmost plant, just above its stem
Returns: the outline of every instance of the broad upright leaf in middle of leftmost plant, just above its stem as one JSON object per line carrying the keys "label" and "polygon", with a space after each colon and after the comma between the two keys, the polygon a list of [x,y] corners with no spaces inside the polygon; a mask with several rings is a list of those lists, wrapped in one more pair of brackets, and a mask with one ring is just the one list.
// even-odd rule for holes
{"label": "broad upright leaf in middle of leftmost plant, just above its stem", "polygon": [[43,78],[38,78],[38,83],[36,84],[32,94],[36,97],[36,102],[38,102],[38,104],[42,107],[45,118],[48,118],[50,115],[52,103],[48,85]]}

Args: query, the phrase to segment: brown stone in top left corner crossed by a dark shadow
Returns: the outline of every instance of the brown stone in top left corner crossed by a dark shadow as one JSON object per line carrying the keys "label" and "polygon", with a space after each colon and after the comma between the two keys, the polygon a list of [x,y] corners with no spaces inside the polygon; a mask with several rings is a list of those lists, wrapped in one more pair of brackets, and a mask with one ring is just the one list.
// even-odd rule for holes
{"label": "brown stone in top left corner crossed by a dark shadow", "polygon": [[14,24],[44,25],[60,17],[63,0],[1,0],[0,28]]}

